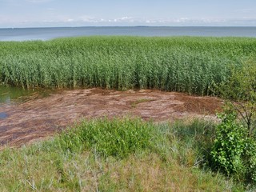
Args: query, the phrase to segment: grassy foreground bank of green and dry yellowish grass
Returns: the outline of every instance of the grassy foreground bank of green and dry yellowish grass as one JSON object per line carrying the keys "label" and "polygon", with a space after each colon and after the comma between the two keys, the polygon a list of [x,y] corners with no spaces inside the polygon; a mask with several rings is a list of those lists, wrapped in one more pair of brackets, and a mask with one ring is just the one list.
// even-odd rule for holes
{"label": "grassy foreground bank of green and dry yellowish grass", "polygon": [[92,120],[0,153],[2,191],[243,191],[207,170],[214,125]]}

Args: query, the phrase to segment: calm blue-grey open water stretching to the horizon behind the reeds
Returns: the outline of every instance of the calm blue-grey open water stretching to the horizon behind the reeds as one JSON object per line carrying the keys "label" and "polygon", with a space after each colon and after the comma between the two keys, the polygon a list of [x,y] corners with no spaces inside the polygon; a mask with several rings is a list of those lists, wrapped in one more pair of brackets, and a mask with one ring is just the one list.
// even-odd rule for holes
{"label": "calm blue-grey open water stretching to the horizon behind the reeds", "polygon": [[0,41],[49,40],[91,35],[254,37],[254,27],[88,26],[0,29]]}

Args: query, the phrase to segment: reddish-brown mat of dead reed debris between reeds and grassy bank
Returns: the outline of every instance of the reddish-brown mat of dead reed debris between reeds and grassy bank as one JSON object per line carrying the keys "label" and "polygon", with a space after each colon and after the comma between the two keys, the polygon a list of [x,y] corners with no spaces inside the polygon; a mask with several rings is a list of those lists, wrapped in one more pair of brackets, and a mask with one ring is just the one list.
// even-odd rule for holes
{"label": "reddish-brown mat of dead reed debris between reeds and grassy bank", "polygon": [[46,138],[82,118],[138,116],[155,122],[179,118],[214,118],[222,100],[159,90],[63,90],[45,98],[31,98],[2,106],[0,147],[21,146]]}

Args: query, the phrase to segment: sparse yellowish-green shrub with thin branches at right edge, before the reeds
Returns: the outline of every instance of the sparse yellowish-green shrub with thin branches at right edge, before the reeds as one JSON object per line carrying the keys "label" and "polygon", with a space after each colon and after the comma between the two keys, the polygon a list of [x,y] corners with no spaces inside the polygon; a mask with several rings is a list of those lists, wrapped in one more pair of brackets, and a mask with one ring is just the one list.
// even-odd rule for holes
{"label": "sparse yellowish-green shrub with thin branches at right edge, before the reeds", "polygon": [[256,62],[255,58],[232,69],[230,78],[218,86],[222,98],[226,98],[226,109],[238,113],[245,123],[248,135],[255,137],[256,131]]}

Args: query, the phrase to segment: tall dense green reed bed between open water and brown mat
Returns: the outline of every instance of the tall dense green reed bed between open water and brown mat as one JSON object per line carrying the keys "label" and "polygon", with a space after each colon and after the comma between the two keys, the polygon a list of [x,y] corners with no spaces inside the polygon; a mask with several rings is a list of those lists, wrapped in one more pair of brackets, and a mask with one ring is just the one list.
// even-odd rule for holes
{"label": "tall dense green reed bed between open water and brown mat", "polygon": [[256,38],[85,37],[0,42],[0,82],[11,86],[152,88],[211,94],[230,65],[256,55]]}

